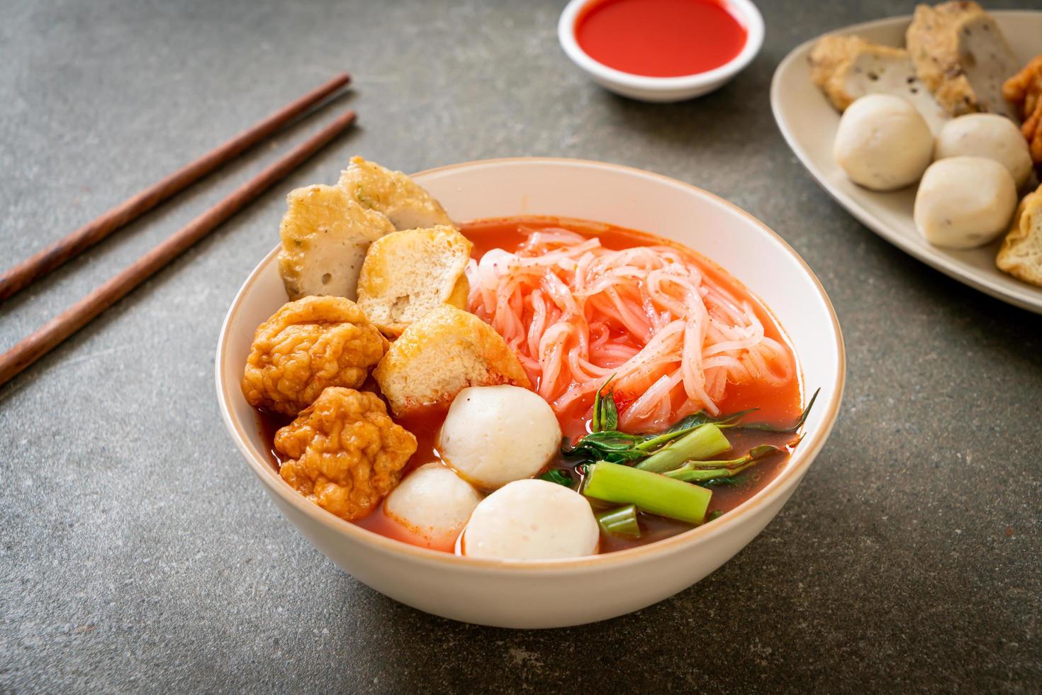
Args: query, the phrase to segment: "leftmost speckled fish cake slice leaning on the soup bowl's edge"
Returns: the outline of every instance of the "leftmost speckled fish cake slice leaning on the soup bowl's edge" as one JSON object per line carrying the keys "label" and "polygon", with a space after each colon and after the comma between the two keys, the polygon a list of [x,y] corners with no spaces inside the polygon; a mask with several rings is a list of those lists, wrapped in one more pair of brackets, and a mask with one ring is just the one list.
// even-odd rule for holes
{"label": "leftmost speckled fish cake slice leaning on the soup bowl's edge", "polygon": [[334,185],[291,191],[279,235],[278,271],[290,299],[336,295],[354,299],[369,245],[394,225]]}

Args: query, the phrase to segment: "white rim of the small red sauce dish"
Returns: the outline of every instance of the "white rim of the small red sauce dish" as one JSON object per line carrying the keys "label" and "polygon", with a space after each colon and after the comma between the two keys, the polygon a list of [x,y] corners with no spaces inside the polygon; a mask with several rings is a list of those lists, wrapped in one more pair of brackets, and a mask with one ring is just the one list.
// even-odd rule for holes
{"label": "white rim of the small red sauce dish", "polygon": [[742,50],[739,51],[738,55],[722,66],[691,75],[652,77],[625,72],[611,68],[591,56],[582,50],[578,40],[575,38],[575,20],[578,18],[579,13],[588,5],[602,1],[570,0],[565,5],[564,10],[561,13],[561,18],[557,20],[557,41],[572,63],[587,73],[620,86],[647,92],[668,92],[673,90],[694,90],[714,84],[718,81],[729,79],[744,70],[756,57],[764,44],[764,18],[752,1],[721,0],[723,4],[730,7],[733,10],[731,14],[738,15],[738,19],[745,23],[745,45],[742,46]]}

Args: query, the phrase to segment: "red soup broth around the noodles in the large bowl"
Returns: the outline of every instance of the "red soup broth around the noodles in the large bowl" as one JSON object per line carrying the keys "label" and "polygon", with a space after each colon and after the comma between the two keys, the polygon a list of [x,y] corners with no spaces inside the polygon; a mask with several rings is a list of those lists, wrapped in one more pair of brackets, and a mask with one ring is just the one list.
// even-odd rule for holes
{"label": "red soup broth around the noodles in the large bowl", "polygon": [[[517,217],[478,220],[464,224],[462,231],[474,244],[473,257],[480,258],[487,251],[494,248],[514,251],[527,239],[528,234],[546,227],[565,228],[588,237],[596,235],[600,239],[604,247],[616,250],[631,248],[634,246],[673,246],[683,251],[714,282],[725,287],[735,296],[748,301],[763,323],[766,336],[773,338],[784,345],[789,345],[788,339],[782,332],[771,313],[759,298],[749,294],[748,290],[741,282],[702,255],[669,240],[623,227],[557,218]],[[375,384],[371,381],[363,388],[375,391]],[[728,384],[724,397],[718,405],[721,413],[724,414],[758,408],[754,414],[747,417],[747,420],[769,422],[784,426],[791,425],[799,417],[801,409],[798,369],[794,370],[792,379],[778,387],[764,383]],[[438,430],[445,419],[445,408],[430,408],[407,417],[396,418],[396,422],[413,432],[418,442],[416,453],[413,454],[413,457],[406,464],[403,477],[414,469],[441,458],[437,448],[437,437]],[[277,469],[280,465],[280,457],[274,447],[275,431],[288,424],[292,418],[258,411],[257,419],[262,435],[268,444],[272,465]],[[572,439],[588,431],[588,417],[585,412],[568,413],[560,417],[559,420],[561,421],[562,431]],[[786,448],[787,451],[791,452],[792,447],[788,445],[792,444],[795,438],[793,435],[728,430],[727,439],[731,443],[731,450],[727,452],[726,457],[737,458],[745,454],[752,447],[761,444],[773,444],[774,446]],[[785,468],[787,460],[788,455],[783,454],[767,457],[743,473],[740,478],[741,482],[738,485],[715,486],[713,488],[713,498],[710,502],[709,514],[713,515],[714,512],[729,512],[755,495]],[[562,468],[573,472],[573,464],[563,456],[559,456],[551,462],[549,468]],[[574,472],[573,477],[575,477]],[[597,505],[595,501],[593,503],[595,506]],[[422,539],[413,536],[400,524],[392,521],[383,514],[382,505],[374,510],[369,516],[357,519],[353,523],[381,536],[415,545],[431,547]],[[639,539],[626,539],[601,533],[600,552],[646,545],[691,528],[691,525],[685,522],[648,514],[641,514],[640,524],[642,536]],[[453,551],[452,546],[436,547],[436,549],[446,552]]]}

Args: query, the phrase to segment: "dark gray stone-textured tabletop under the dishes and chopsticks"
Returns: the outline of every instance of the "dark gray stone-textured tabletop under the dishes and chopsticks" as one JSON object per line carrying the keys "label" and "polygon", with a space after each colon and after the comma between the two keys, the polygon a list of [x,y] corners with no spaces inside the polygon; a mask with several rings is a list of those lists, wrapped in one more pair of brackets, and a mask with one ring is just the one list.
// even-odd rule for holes
{"label": "dark gray stone-textured tabletop under the dishes and chopsticks", "polygon": [[[562,5],[3,2],[0,267],[343,69],[359,128],[0,389],[0,691],[1042,691],[1042,320],[854,221],[768,104],[795,45],[912,2],[763,0],[752,66],[675,105],[589,82],[557,46]],[[0,348],[331,113],[0,306]],[[672,599],[545,631],[424,615],[313,548],[225,432],[214,348],[286,191],[353,153],[621,163],[776,229],[832,296],[849,367],[774,522]]]}

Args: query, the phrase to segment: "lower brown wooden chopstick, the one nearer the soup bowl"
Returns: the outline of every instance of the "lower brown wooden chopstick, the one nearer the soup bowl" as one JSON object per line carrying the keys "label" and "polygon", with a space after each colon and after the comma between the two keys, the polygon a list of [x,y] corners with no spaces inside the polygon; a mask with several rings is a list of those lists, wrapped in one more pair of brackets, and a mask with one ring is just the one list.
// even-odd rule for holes
{"label": "lower brown wooden chopstick, the one nearer the soup bowl", "polygon": [[354,116],[353,110],[339,116],[332,123],[241,185],[224,200],[189,222],[121,273],[0,355],[0,386],[47,354],[55,345],[82,328],[94,317],[115,304],[154,272],[242,209],[246,203],[299,167],[305,159],[354,123]]}

